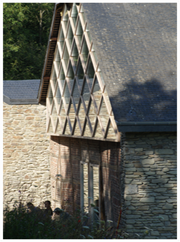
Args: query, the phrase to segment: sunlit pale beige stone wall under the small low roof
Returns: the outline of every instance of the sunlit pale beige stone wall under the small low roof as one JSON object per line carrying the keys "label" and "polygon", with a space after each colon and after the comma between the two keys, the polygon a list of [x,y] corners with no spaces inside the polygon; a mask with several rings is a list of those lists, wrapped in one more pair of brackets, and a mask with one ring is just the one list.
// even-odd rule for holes
{"label": "sunlit pale beige stone wall under the small low roof", "polygon": [[51,200],[46,107],[3,103],[4,206]]}

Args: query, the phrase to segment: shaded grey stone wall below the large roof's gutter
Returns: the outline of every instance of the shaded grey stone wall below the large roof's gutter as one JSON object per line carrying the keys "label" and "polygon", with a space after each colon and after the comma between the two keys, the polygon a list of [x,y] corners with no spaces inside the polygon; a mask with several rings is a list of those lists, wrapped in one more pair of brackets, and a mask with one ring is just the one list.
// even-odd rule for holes
{"label": "shaded grey stone wall below the large roof's gutter", "polygon": [[176,238],[176,139],[176,133],[126,134],[123,218],[127,232],[145,232],[145,238],[151,239]]}

